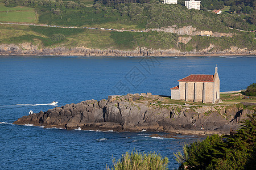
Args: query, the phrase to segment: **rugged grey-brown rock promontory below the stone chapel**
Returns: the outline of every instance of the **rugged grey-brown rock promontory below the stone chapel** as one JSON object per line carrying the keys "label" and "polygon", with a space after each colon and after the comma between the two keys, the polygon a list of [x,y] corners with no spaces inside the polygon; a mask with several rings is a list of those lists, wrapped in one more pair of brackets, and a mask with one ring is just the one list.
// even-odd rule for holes
{"label": "rugged grey-brown rock promontory below the stone chapel", "polygon": [[[154,98],[155,96],[150,96]],[[114,131],[166,131],[183,134],[229,133],[254,111],[226,106],[152,104],[139,95],[87,100],[23,116],[14,124],[45,128]],[[154,98],[155,99],[155,98]],[[157,99],[162,100],[161,97]],[[155,100],[157,100],[155,99]],[[201,126],[204,129],[201,130]]]}

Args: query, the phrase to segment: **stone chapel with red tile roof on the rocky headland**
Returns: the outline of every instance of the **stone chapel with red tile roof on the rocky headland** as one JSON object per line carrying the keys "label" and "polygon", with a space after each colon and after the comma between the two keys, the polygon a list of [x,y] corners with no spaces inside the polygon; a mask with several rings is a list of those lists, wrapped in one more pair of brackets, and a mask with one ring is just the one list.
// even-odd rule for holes
{"label": "stone chapel with red tile roof on the rocky headland", "polygon": [[179,86],[171,88],[171,99],[202,103],[220,100],[220,79],[218,67],[214,75],[191,74],[178,80]]}

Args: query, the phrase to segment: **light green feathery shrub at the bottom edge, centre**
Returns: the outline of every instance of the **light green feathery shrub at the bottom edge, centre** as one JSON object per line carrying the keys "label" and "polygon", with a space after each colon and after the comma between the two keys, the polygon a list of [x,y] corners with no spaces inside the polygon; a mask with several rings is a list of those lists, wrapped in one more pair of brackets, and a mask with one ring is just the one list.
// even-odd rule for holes
{"label": "light green feathery shrub at the bottom edge, centre", "polygon": [[[122,158],[116,161],[113,159],[113,168],[112,169],[168,169],[168,158],[160,156],[155,152],[150,152],[144,154],[144,152],[131,151],[131,153],[126,152],[125,155],[122,155]],[[109,168],[107,168],[109,169]]]}

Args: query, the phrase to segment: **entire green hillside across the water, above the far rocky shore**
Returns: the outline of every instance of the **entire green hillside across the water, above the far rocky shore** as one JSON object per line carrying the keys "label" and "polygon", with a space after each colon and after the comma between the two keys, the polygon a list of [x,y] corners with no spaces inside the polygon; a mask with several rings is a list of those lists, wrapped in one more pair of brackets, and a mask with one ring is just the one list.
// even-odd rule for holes
{"label": "entire green hillside across the water, above the far rocky shore", "polygon": [[[230,0],[231,1],[231,0]],[[158,0],[140,1],[92,1],[92,0],[0,0],[0,22],[63,25],[66,27],[92,27],[98,29],[53,28],[26,25],[1,24],[0,44],[32,42],[42,48],[52,46],[86,46],[98,49],[177,49],[181,52],[225,50],[231,46],[255,50],[255,3],[243,3],[240,11],[221,15],[208,11],[203,0],[203,10],[188,10],[183,1],[177,5],[163,5]],[[233,1],[232,1],[233,2]],[[236,3],[237,4],[237,3]],[[213,5],[214,6],[214,5]],[[247,14],[245,8],[253,9]],[[217,7],[216,7],[217,8]],[[229,8],[229,10],[228,10]],[[247,9],[246,8],[246,9]],[[233,33],[233,37],[191,36],[188,43],[180,41],[188,35],[166,32],[116,32],[100,28],[135,29],[181,28],[192,25],[196,31],[205,30]],[[233,28],[233,29],[230,29]],[[245,32],[236,29],[245,30]]]}

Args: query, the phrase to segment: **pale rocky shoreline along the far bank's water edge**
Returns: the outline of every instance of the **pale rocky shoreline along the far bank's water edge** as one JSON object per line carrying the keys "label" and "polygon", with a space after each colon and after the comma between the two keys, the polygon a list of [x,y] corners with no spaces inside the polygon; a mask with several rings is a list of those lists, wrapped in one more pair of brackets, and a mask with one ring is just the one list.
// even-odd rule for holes
{"label": "pale rocky shoreline along the far bank's water edge", "polygon": [[190,52],[181,52],[177,49],[145,49],[139,48],[135,50],[118,50],[118,49],[90,49],[84,46],[67,48],[57,46],[55,48],[39,48],[32,43],[23,43],[19,45],[3,44],[0,45],[0,56],[221,56],[221,55],[255,55],[256,50],[249,51],[246,48],[240,49],[236,46],[230,47],[228,50],[218,51],[212,50],[214,45],[209,48]]}

